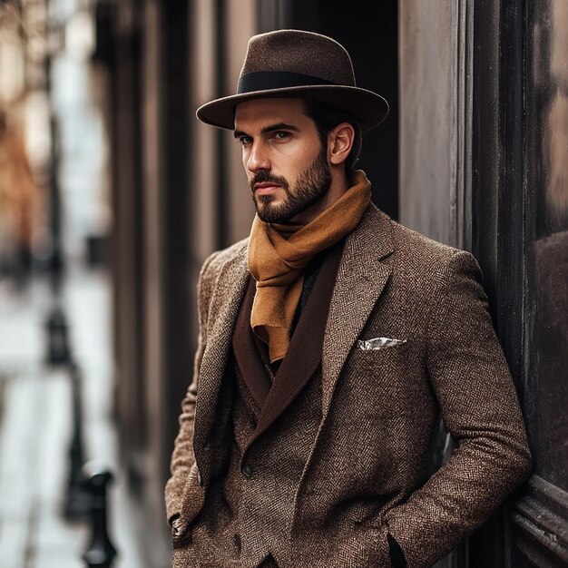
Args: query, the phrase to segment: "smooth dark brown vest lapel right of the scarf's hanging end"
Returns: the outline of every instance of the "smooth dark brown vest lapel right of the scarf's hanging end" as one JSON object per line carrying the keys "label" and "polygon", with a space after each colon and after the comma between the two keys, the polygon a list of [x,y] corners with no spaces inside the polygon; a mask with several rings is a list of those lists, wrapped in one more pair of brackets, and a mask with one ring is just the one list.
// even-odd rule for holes
{"label": "smooth dark brown vest lapel right of the scarf's hanging end", "polygon": [[274,383],[262,406],[259,422],[249,444],[274,423],[318,369],[329,301],[338,273],[341,250],[342,243],[329,250],[319,269],[308,302],[292,335],[288,353],[274,377]]}

